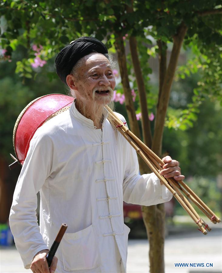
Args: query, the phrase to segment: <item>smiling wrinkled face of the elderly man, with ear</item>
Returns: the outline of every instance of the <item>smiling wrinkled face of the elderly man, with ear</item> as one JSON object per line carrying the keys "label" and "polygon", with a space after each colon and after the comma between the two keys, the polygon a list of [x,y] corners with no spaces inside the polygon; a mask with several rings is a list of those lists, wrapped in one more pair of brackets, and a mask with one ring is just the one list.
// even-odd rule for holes
{"label": "smiling wrinkled face of the elderly man, with ear", "polygon": [[67,84],[75,91],[76,100],[86,104],[109,104],[116,81],[109,60],[100,53],[91,53],[81,59],[76,75],[66,77]]}

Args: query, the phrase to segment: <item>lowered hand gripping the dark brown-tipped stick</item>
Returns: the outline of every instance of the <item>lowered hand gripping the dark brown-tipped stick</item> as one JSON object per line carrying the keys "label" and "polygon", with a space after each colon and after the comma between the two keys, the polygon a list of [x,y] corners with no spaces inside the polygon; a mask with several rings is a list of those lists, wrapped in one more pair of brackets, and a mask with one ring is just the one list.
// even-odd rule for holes
{"label": "lowered hand gripping the dark brown-tipped stick", "polygon": [[54,273],[55,272],[58,258],[56,256],[53,257],[52,263],[49,269],[48,262],[46,260],[46,255],[48,254],[48,252],[49,250],[44,249],[42,251],[39,251],[35,255],[35,257],[33,258],[32,264],[30,266],[33,273]]}

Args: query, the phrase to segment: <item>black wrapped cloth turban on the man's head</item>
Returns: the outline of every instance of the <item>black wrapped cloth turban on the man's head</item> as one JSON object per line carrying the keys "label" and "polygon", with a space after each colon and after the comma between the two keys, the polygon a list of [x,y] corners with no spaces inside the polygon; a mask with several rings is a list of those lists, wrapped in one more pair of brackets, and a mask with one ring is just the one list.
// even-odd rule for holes
{"label": "black wrapped cloth turban on the man's head", "polygon": [[65,46],[56,57],[56,73],[59,78],[66,83],[66,76],[70,74],[72,67],[82,57],[93,53],[102,53],[107,56],[108,50],[106,46],[93,37],[81,37]]}

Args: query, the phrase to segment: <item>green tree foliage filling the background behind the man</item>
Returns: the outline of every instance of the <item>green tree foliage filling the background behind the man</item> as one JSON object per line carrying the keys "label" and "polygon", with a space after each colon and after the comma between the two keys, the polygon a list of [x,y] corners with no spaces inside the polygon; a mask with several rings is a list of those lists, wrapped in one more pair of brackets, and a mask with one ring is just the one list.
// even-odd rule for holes
{"label": "green tree foliage filling the background behind the man", "polygon": [[[163,154],[179,160],[186,176],[215,178],[221,172],[221,16],[204,15],[221,10],[221,1],[134,1],[132,13],[128,12],[130,5],[130,0],[1,2],[1,47],[9,56],[3,58],[0,70],[2,157],[9,160],[15,121],[30,101],[50,93],[66,94],[66,87],[56,76],[54,58],[64,45],[79,36],[103,40],[110,53],[115,53],[114,42],[119,33],[125,38],[126,34],[137,36],[147,105],[155,114],[157,75],[148,61],[158,55],[158,39],[170,51],[173,36],[184,22],[188,30],[183,53],[188,60],[177,70],[172,87]],[[47,64],[42,68],[31,67],[34,44],[43,46],[41,58]],[[127,60],[132,88],[137,92],[130,55]],[[117,90],[122,92],[121,84]],[[140,112],[138,96],[135,108]],[[126,116],[124,105],[116,103],[116,110]],[[153,130],[154,121],[151,127]]]}

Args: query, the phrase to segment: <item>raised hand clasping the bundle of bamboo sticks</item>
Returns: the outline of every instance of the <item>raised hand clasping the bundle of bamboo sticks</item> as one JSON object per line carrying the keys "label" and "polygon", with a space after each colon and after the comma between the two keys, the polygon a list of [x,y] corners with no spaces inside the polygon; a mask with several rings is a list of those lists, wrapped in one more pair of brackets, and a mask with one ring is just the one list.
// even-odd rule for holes
{"label": "raised hand clasping the bundle of bamboo sticks", "polygon": [[179,162],[177,160],[173,160],[169,155],[165,156],[163,159],[165,165],[163,165],[163,169],[160,171],[160,174],[165,178],[173,177],[176,180],[183,180],[184,176],[181,175],[181,170],[179,167]]}

